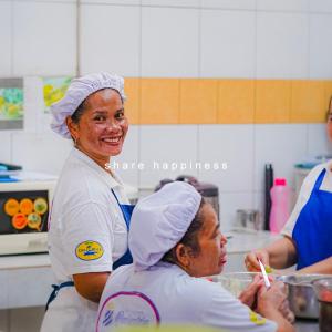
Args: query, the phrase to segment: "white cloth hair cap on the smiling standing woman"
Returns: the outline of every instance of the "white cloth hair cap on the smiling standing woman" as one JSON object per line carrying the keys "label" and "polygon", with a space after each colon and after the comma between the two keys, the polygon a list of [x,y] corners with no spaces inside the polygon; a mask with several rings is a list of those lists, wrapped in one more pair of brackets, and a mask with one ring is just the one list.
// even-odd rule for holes
{"label": "white cloth hair cap on the smiling standing woman", "polygon": [[51,128],[62,137],[71,138],[65,118],[73,115],[87,96],[106,87],[116,90],[122,100],[125,101],[124,80],[121,76],[102,72],[74,79],[64,97],[51,106],[51,113],[53,115]]}

